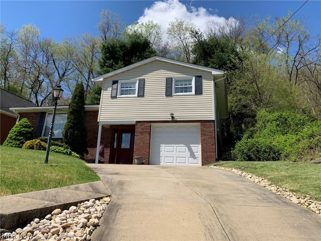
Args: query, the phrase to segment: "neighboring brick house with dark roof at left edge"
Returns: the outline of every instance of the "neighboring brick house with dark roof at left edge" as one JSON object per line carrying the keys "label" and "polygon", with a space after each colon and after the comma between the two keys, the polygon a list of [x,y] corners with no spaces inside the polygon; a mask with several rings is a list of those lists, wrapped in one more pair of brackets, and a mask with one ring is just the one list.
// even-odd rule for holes
{"label": "neighboring brick house with dark roof at left edge", "polygon": [[18,95],[0,89],[0,145],[2,145],[10,132],[16,125],[18,114],[10,110],[10,107],[32,107],[36,106],[33,102]]}

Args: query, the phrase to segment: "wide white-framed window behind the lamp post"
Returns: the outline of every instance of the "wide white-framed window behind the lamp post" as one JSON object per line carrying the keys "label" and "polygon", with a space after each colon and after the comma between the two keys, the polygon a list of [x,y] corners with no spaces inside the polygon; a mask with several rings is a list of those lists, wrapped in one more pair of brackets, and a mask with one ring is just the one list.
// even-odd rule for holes
{"label": "wide white-framed window behind the lamp post", "polygon": [[[52,114],[47,114],[43,129],[43,137],[49,137]],[[67,122],[67,114],[56,114],[52,138],[62,138],[62,132]]]}

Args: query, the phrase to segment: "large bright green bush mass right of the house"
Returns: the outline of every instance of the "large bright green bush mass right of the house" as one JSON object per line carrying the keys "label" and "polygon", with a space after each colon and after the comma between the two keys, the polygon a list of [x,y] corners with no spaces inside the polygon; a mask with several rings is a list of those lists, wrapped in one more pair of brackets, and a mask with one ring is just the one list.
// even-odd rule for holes
{"label": "large bright green bush mass right of the house", "polygon": [[321,157],[321,121],[293,112],[259,111],[255,128],[235,145],[238,161],[311,161]]}

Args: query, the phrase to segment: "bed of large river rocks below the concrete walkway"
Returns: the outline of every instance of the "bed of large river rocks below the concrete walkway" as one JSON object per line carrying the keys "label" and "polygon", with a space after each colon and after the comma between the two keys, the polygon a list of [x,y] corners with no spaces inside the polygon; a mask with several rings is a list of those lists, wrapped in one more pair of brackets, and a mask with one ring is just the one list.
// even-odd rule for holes
{"label": "bed of large river rocks below the concrete walkway", "polygon": [[69,210],[55,209],[45,218],[34,218],[24,228],[1,234],[1,241],[89,241],[99,225],[99,219],[109,204],[110,197],[71,206]]}

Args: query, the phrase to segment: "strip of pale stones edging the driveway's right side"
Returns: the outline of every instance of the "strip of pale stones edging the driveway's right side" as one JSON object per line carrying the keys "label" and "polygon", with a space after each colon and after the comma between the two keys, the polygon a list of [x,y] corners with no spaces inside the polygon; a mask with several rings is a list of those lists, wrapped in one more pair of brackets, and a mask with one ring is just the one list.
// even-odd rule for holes
{"label": "strip of pale stones edging the driveway's right side", "polygon": [[226,169],[226,170],[230,170],[232,172],[235,172],[235,173],[251,180],[252,182],[255,182],[255,183],[269,189],[270,191],[275,192],[278,195],[283,196],[286,199],[288,199],[288,200],[290,200],[290,201],[292,201],[302,207],[305,207],[305,208],[311,210],[312,212],[315,212],[319,216],[321,216],[321,202],[311,200],[310,199],[311,197],[309,195],[306,195],[306,197],[298,196],[294,192],[289,192],[285,188],[280,188],[276,185],[270,185],[270,182],[262,177],[258,177],[258,176],[253,175],[252,173],[241,171],[240,169],[237,169],[237,168],[225,168],[225,167],[220,167],[220,166],[216,166],[216,165],[213,165],[210,167],[221,168],[221,169]]}

